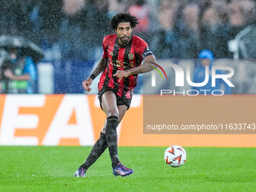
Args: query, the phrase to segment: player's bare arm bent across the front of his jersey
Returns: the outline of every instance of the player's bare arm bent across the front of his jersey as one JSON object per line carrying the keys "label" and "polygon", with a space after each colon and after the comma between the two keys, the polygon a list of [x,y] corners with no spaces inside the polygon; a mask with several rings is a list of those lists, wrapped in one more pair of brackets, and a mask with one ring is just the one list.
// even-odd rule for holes
{"label": "player's bare arm bent across the front of his jersey", "polygon": [[119,80],[121,80],[122,78],[126,78],[129,75],[137,75],[140,73],[150,72],[154,68],[156,68],[156,66],[154,65],[154,63],[156,63],[156,62],[157,62],[157,60],[153,54],[148,55],[145,57],[142,65],[137,66],[133,69],[126,70],[126,71],[117,70],[117,72],[114,74],[114,77],[117,77],[117,78],[119,78]]}

